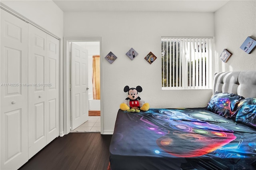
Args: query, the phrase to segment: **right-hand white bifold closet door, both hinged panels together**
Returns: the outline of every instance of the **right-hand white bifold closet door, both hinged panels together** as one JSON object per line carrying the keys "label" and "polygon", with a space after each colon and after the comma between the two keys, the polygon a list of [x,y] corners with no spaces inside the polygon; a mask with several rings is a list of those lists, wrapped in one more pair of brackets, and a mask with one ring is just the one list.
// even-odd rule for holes
{"label": "right-hand white bifold closet door, both hinged panels together", "polygon": [[29,24],[28,158],[59,136],[59,41]]}

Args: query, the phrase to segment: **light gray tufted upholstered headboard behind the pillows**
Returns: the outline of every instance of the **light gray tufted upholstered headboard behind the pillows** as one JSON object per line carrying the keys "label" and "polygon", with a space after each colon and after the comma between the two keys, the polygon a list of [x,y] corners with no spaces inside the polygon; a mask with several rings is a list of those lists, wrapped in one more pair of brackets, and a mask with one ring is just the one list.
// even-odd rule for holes
{"label": "light gray tufted upholstered headboard behind the pillows", "polygon": [[256,71],[230,71],[214,75],[213,93],[234,93],[256,98]]}

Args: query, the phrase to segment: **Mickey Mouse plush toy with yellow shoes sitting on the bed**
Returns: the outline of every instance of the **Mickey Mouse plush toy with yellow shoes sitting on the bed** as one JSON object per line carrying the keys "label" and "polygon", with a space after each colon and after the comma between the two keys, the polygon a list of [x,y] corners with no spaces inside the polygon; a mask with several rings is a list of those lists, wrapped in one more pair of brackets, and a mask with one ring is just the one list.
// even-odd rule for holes
{"label": "Mickey Mouse plush toy with yellow shoes sitting on the bed", "polygon": [[[128,85],[124,87],[124,92],[128,92],[128,97],[125,99],[124,103],[120,105],[122,111],[137,112],[147,111],[149,109],[149,104],[145,103],[138,96],[138,92],[142,92],[142,87],[137,86],[136,88],[130,88]],[[130,100],[128,106],[128,100]]]}

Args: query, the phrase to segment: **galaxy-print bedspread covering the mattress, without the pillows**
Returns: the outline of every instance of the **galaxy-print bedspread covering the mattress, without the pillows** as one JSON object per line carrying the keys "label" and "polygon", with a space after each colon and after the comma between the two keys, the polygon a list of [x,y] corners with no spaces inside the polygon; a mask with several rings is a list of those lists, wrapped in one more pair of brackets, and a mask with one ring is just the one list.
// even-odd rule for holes
{"label": "galaxy-print bedspread covering the mattress, without the pillows", "polygon": [[111,170],[254,170],[256,130],[204,108],[119,110]]}

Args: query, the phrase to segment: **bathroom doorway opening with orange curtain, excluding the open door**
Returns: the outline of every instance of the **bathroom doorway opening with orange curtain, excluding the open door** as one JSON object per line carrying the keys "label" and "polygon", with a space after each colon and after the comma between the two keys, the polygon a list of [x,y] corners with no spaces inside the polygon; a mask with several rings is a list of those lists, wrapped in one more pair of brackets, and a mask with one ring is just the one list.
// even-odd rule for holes
{"label": "bathroom doorway opening with orange curtain, excluding the open door", "polygon": [[[70,132],[100,132],[100,41],[70,42],[70,47],[72,46],[72,43],[87,51],[88,71],[86,77],[88,77],[87,95],[89,117],[88,121],[85,121],[79,127],[70,130]],[[70,71],[72,71],[72,69],[70,69]],[[70,114],[72,115],[72,113]]]}

